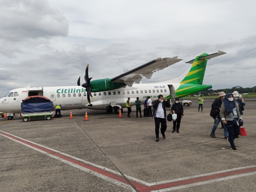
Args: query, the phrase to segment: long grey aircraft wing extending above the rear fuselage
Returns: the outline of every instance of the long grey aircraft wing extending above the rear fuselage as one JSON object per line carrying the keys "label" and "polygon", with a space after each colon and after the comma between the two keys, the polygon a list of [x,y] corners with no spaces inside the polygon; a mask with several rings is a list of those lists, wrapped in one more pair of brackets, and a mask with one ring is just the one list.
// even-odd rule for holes
{"label": "long grey aircraft wing extending above the rear fuselage", "polygon": [[126,85],[131,87],[134,82],[140,83],[143,76],[147,79],[150,79],[153,73],[155,73],[156,71],[162,70],[181,60],[182,59],[178,59],[177,57],[158,57],[155,60],[145,63],[144,65],[141,65],[126,73],[116,76],[110,79],[110,81],[115,83],[125,83]]}

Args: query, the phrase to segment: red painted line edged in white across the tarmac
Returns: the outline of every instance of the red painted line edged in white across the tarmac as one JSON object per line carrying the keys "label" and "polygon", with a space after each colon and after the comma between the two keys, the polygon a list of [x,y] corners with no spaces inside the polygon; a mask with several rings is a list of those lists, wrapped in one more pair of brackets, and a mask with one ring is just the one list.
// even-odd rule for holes
{"label": "red painted line edged in white across the tarmac", "polygon": [[[67,160],[69,162],[72,162],[74,164],[80,165],[82,167],[85,167],[87,169],[90,169],[94,172],[98,172],[102,175],[105,175],[109,178],[115,179],[117,181],[123,182],[127,185],[129,185],[129,183],[120,175],[116,175],[112,172],[108,172],[106,170],[103,170],[101,168],[95,167],[93,165],[81,162],[79,160],[73,159],[71,157],[65,156],[63,154],[60,154],[56,151],[41,147],[39,145],[30,143],[28,141],[25,141],[23,139],[17,138],[15,136],[9,135],[8,133],[4,133],[1,132],[1,134],[12,138],[14,140],[20,141],[24,144],[27,144],[31,147],[40,149],[46,153],[49,153],[51,155],[60,157],[61,159]],[[139,191],[141,192],[149,192],[152,190],[159,190],[159,189],[164,189],[164,188],[170,188],[170,187],[176,187],[176,186],[183,186],[183,185],[188,185],[188,184],[193,184],[193,183],[198,183],[198,182],[202,182],[202,181],[208,181],[208,180],[214,180],[214,179],[219,179],[219,178],[224,178],[224,177],[228,177],[228,176],[233,176],[233,175],[239,175],[239,174],[243,174],[243,173],[249,173],[249,172],[255,172],[256,171],[256,167],[251,167],[251,168],[244,168],[244,169],[239,169],[239,170],[234,170],[234,171],[229,171],[229,172],[222,172],[222,173],[216,173],[216,174],[212,174],[212,175],[206,175],[206,176],[201,176],[201,177],[196,177],[196,178],[191,178],[191,179],[186,179],[186,180],[180,180],[180,181],[173,181],[173,182],[169,182],[169,183],[164,183],[164,184],[159,184],[159,185],[154,185],[154,186],[146,186],[144,184],[141,184],[139,182],[136,182],[134,180],[129,180],[132,185],[134,185]]]}

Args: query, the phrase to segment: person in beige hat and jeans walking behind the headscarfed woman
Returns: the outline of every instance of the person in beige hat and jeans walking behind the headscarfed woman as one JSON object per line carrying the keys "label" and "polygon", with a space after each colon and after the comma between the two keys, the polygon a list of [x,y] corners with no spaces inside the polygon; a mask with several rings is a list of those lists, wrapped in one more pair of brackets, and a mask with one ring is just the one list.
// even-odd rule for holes
{"label": "person in beige hat and jeans walking behind the headscarfed woman", "polygon": [[219,98],[215,99],[212,103],[212,110],[215,109],[215,110],[218,110],[218,115],[214,118],[214,125],[212,127],[212,132],[210,134],[211,137],[213,138],[216,138],[215,136],[215,130],[217,129],[218,125],[221,123],[221,128],[220,130],[224,130],[224,138],[225,139],[228,139],[228,130],[225,126],[225,124],[223,124],[223,122],[221,121],[220,119],[220,107],[223,103],[223,99],[225,97],[225,93],[224,92],[219,92]]}

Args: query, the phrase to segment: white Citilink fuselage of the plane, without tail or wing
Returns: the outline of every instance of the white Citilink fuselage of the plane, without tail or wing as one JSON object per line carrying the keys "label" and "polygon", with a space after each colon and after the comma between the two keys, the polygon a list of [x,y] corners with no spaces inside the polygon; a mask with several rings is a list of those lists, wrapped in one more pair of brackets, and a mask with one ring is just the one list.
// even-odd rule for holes
{"label": "white Citilink fuselage of the plane, without tail or wing", "polygon": [[[170,86],[172,86],[172,91]],[[87,100],[87,92],[82,86],[63,87],[29,87],[18,88],[10,91],[10,96],[0,99],[0,111],[7,113],[21,113],[21,102],[28,96],[40,95],[52,100],[54,106],[61,105],[61,110],[90,108],[95,110],[107,110],[108,106],[120,106],[125,108],[127,98],[130,97],[131,105],[135,105],[136,98],[139,97],[141,104],[144,104],[147,96],[154,101],[159,94],[169,97],[179,83],[154,83],[154,84],[134,84],[132,87],[125,87],[111,91],[93,92],[91,104]],[[13,93],[13,94],[12,94]],[[174,93],[173,93],[174,94]]]}

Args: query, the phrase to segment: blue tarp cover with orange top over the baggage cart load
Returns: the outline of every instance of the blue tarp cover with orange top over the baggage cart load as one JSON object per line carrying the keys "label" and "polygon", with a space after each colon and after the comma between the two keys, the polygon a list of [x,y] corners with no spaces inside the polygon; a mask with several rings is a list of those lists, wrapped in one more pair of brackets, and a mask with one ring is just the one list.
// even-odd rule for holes
{"label": "blue tarp cover with orange top over the baggage cart load", "polygon": [[21,113],[53,111],[52,101],[42,96],[31,96],[21,103]]}

